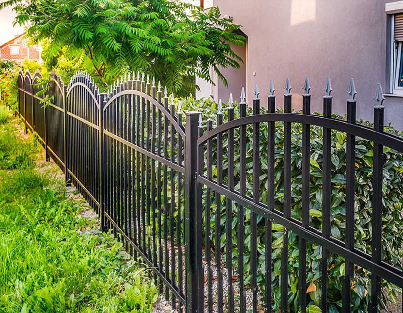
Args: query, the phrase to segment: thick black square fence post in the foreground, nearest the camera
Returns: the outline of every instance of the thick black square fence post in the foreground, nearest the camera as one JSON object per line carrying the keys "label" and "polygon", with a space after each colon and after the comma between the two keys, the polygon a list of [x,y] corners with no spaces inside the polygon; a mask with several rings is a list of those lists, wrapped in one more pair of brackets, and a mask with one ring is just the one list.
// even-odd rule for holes
{"label": "thick black square fence post in the foreground, nearest the camera", "polygon": [[186,112],[185,139],[185,271],[186,313],[197,312],[198,273],[196,264],[196,175],[200,113]]}

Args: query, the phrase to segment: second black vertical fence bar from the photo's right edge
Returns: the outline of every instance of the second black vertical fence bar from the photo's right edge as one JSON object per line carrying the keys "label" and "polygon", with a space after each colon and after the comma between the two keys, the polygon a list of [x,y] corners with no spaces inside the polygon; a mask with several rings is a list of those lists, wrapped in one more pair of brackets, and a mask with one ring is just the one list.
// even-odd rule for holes
{"label": "second black vertical fence bar from the photo's right edge", "polygon": [[[353,93],[354,94],[354,93]],[[356,124],[356,100],[347,100],[347,123]],[[354,250],[354,202],[355,202],[356,137],[347,134],[346,146],[346,249]],[[351,280],[354,278],[354,264],[345,261],[345,277],[342,292],[341,311],[351,312]]]}

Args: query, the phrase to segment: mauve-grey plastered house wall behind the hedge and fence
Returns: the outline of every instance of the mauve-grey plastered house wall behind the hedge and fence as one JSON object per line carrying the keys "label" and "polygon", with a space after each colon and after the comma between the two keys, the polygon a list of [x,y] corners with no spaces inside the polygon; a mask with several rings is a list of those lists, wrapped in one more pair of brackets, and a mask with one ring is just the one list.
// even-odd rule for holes
{"label": "mauve-grey plastered house wall behind the hedge and fence", "polygon": [[[322,112],[326,77],[333,88],[333,111],[345,114],[350,78],[356,85],[357,118],[372,121],[378,82],[388,90],[388,18],[386,0],[214,0],[221,14],[232,16],[248,36],[246,89],[261,98],[274,80],[282,106],[285,78],[290,77],[293,108],[300,110],[305,76],[310,78],[312,111]],[[390,27],[389,27],[390,28]],[[390,48],[389,48],[390,51]],[[253,76],[255,73],[255,76]],[[228,79],[228,77],[227,77]],[[228,91],[233,89],[230,78]],[[222,88],[218,85],[219,89]],[[238,88],[238,87],[236,87]],[[214,89],[214,88],[213,88]],[[240,90],[234,94],[238,98]],[[222,96],[223,98],[226,98]],[[385,96],[386,123],[403,129],[403,97]],[[266,103],[266,101],[262,101]]]}

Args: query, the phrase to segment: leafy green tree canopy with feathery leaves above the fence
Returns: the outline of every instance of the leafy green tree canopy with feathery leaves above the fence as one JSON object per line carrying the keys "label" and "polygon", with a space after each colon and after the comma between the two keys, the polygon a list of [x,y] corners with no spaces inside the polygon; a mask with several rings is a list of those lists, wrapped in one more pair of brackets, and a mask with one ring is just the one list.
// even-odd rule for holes
{"label": "leafy green tree canopy with feathery leaves above the fence", "polygon": [[220,66],[242,61],[230,45],[244,44],[234,32],[240,26],[218,8],[204,12],[178,0],[7,0],[0,10],[6,6],[33,41],[48,39],[47,58],[87,64],[105,86],[140,70],[181,94],[191,76],[213,83],[209,66],[226,85]]}

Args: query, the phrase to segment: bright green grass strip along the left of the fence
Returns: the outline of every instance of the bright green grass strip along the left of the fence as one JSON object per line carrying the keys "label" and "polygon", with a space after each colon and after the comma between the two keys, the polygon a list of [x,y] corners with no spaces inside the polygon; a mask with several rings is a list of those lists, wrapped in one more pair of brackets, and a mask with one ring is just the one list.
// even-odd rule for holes
{"label": "bright green grass strip along the left of the fence", "polygon": [[[21,143],[2,127],[0,143]],[[33,168],[35,153],[11,150],[0,163],[0,312],[151,312],[147,270],[109,234],[93,235],[81,204]]]}

